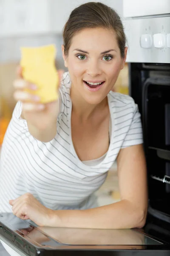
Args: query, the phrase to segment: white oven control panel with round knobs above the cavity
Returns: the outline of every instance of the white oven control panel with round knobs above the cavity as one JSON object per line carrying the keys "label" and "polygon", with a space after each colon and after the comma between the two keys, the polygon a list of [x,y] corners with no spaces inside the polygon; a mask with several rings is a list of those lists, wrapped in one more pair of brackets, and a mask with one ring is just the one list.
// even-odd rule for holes
{"label": "white oven control panel with round knobs above the cavity", "polygon": [[124,21],[127,62],[170,63],[170,16]]}

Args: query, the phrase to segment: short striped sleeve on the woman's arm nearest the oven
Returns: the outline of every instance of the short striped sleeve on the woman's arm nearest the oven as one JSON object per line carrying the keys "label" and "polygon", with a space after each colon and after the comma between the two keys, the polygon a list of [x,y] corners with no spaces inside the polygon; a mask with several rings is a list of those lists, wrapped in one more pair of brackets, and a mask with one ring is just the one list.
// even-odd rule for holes
{"label": "short striped sleeve on the woman's arm nearest the oven", "polygon": [[138,105],[135,104],[134,101],[133,101],[133,105],[134,105],[133,119],[130,124],[130,128],[125,136],[125,140],[122,144],[122,148],[143,143],[141,114],[139,113]]}

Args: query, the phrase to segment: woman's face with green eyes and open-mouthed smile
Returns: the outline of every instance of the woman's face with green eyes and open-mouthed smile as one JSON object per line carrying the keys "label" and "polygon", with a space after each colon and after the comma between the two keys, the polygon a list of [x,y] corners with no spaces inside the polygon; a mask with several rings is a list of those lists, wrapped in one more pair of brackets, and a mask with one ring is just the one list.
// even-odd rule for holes
{"label": "woman's face with green eyes and open-mouthed smile", "polygon": [[[65,67],[71,76],[71,90],[89,104],[99,104],[113,88],[125,58],[121,58],[116,34],[107,29],[83,29],[71,40]],[[88,83],[92,84],[88,84]],[[102,83],[102,84],[93,84]]]}

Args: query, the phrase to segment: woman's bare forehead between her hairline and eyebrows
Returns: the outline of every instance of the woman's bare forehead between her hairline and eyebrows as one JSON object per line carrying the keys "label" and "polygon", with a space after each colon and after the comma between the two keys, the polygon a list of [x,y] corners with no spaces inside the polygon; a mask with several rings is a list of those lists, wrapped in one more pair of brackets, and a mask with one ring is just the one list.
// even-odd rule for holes
{"label": "woman's bare forehead between her hairline and eyebrows", "polygon": [[107,49],[118,49],[116,33],[104,28],[83,29],[74,35],[70,48],[80,48],[87,51],[106,51]]}

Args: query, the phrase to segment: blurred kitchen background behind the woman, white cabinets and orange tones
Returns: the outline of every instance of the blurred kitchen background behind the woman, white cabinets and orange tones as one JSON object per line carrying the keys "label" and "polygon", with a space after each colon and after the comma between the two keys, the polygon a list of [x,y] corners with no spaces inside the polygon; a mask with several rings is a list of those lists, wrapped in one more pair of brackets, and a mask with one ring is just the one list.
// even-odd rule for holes
{"label": "blurred kitchen background behind the woman, white cabinets and orange tones", "polygon": [[[88,0],[0,0],[0,146],[16,102],[12,82],[20,63],[20,47],[55,44],[56,67],[67,69],[62,60],[62,29],[71,10]],[[95,1],[94,2],[98,2]],[[123,21],[123,0],[100,0],[115,9]],[[128,66],[125,64],[114,90],[128,94]],[[99,204],[119,200],[116,163],[97,192]]]}

